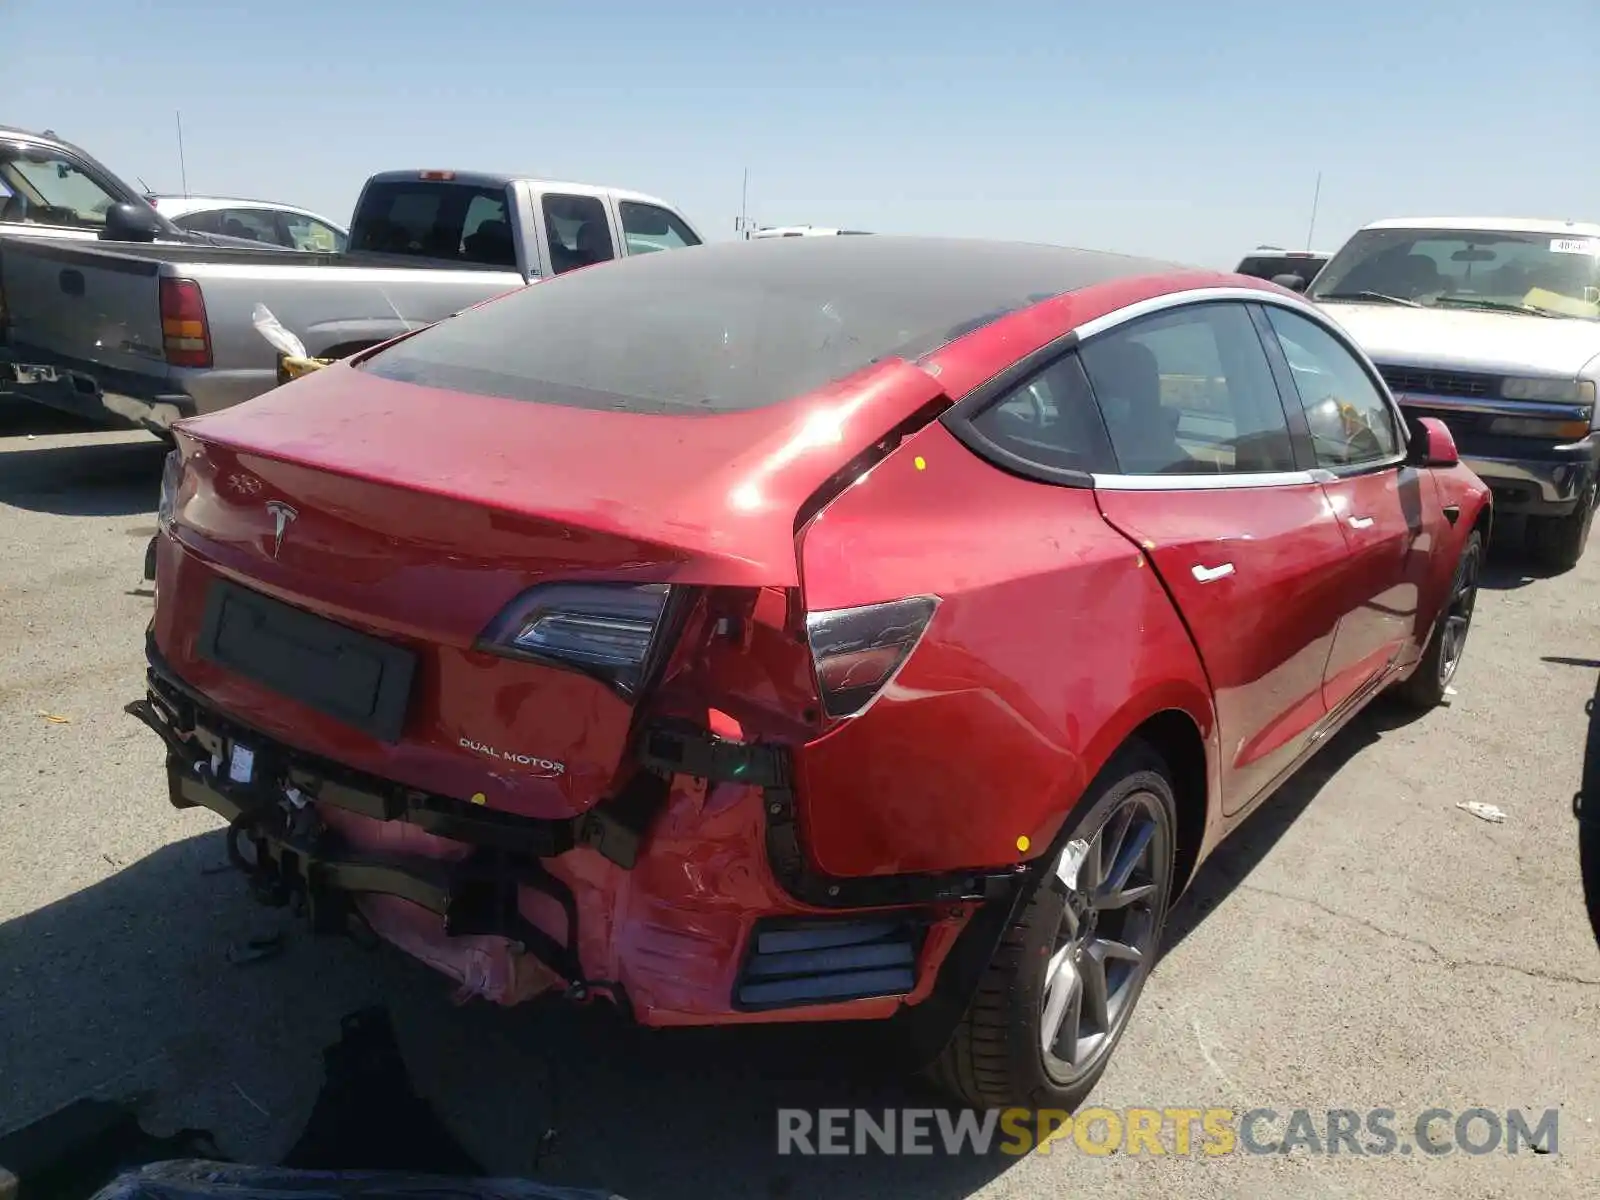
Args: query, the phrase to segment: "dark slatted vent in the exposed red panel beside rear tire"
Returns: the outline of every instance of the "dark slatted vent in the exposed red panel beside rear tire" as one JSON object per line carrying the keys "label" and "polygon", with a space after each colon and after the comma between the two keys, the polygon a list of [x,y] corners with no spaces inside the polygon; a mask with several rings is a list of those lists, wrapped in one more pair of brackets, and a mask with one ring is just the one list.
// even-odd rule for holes
{"label": "dark slatted vent in the exposed red panel beside rear tire", "polygon": [[760,922],[734,1003],[744,1010],[906,995],[922,926],[904,917]]}

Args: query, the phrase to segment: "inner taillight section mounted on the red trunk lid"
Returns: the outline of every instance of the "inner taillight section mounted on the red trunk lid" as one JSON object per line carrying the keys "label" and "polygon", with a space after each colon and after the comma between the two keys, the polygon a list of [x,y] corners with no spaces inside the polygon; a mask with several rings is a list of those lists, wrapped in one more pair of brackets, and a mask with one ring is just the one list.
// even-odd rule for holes
{"label": "inner taillight section mounted on the red trunk lid", "polygon": [[654,658],[666,584],[539,584],[494,618],[478,650],[571,667],[632,696]]}

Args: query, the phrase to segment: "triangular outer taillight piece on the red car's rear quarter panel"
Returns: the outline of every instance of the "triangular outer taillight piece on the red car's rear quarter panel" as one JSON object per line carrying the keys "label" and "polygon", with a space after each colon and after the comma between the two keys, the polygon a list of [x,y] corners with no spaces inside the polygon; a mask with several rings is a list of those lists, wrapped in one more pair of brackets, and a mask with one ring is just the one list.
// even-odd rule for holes
{"label": "triangular outer taillight piece on the red car's rear quarter panel", "polygon": [[829,717],[854,717],[883,691],[917,648],[933,610],[931,595],[806,616],[806,642]]}

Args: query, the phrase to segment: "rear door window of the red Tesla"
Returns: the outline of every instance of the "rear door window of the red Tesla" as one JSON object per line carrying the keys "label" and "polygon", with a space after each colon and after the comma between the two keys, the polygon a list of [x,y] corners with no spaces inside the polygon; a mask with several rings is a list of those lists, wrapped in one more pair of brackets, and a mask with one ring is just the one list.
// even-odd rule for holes
{"label": "rear door window of the red Tesla", "polygon": [[1296,469],[1283,400],[1242,304],[1130,322],[1080,354],[1123,474]]}

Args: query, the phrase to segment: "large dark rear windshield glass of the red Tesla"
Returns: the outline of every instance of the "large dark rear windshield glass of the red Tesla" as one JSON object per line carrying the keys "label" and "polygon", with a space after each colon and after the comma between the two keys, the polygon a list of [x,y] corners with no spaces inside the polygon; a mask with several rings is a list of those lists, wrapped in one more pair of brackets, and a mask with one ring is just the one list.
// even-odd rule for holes
{"label": "large dark rear windshield glass of the red Tesla", "polygon": [[731,242],[533,283],[362,366],[512,400],[728,413],[797,397],[891,355],[914,358],[1005,312],[1141,274],[1141,266],[1003,243]]}

